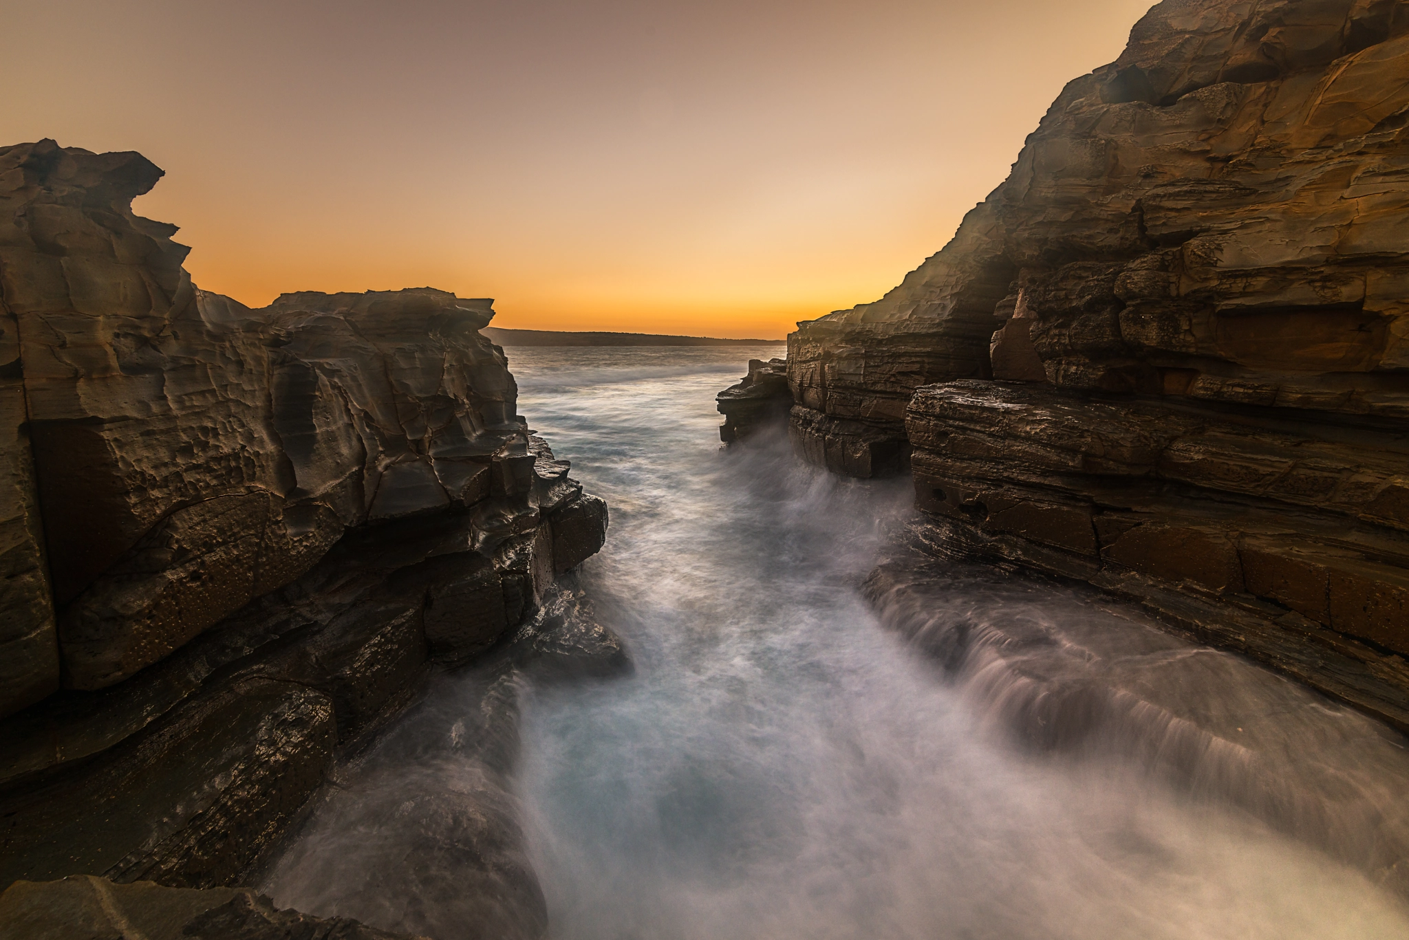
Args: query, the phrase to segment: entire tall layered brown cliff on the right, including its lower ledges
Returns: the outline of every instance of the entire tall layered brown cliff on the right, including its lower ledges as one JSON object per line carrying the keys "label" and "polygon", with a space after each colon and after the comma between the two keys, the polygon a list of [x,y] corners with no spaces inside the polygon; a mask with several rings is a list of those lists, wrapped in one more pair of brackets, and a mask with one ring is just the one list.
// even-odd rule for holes
{"label": "entire tall layered brown cliff on the right, including its lower ledges", "polygon": [[799,450],[1409,727],[1406,124],[1409,3],[1160,3],[943,251],[799,324]]}

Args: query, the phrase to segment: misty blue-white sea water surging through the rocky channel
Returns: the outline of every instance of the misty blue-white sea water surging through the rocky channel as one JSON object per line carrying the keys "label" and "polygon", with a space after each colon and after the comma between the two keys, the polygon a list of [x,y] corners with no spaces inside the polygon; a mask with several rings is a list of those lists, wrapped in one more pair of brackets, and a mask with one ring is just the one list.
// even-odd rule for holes
{"label": "misty blue-white sea water surging through the rocky channel", "polygon": [[[782,438],[719,447],[714,393],[781,347],[507,352],[520,413],[610,505],[575,589],[635,665],[516,685],[507,779],[550,936],[1409,936],[1396,734],[1016,574],[940,567],[868,603],[909,482],[828,476]],[[978,637],[962,662],[934,654],[955,624]],[[1075,743],[1034,736],[1051,689],[1117,672],[1146,692],[1098,700]],[[327,800],[276,902],[426,923],[406,912],[473,862],[396,813],[464,789],[457,709],[483,681],[437,681],[383,736],[395,760]],[[482,936],[468,917],[435,936]]]}

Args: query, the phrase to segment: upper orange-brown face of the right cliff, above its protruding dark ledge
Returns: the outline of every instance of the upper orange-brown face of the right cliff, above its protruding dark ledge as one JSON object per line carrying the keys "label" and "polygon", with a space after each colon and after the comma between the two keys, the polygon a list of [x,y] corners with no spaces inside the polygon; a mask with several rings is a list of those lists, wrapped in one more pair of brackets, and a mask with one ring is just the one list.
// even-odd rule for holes
{"label": "upper orange-brown face of the right cliff, above its protruding dark ledge", "polygon": [[914,388],[989,375],[1405,417],[1406,106],[1409,4],[1155,6],[954,241],[799,324],[796,433],[903,441]]}

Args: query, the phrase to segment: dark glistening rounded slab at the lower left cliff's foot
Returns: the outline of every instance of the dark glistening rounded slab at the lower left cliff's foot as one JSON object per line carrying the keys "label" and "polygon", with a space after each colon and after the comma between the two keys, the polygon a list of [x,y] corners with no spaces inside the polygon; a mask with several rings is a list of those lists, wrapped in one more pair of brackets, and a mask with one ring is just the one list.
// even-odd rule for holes
{"label": "dark glistening rounded slab at the lower left cliff's foot", "polygon": [[335,744],[323,692],[259,676],[224,684],[76,772],[8,788],[0,881],[227,884],[323,782]]}

